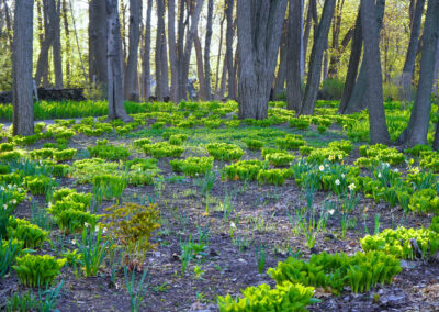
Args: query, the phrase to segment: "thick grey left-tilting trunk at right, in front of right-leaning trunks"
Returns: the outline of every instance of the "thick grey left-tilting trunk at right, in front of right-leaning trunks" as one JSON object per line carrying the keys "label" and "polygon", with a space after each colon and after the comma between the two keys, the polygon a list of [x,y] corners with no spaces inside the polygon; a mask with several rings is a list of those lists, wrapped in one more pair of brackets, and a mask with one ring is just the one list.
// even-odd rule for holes
{"label": "thick grey left-tilting trunk at right, in front of right-leaning trunks", "polygon": [[390,144],[384,113],[383,81],[380,57],[380,32],[374,0],[361,0],[361,25],[364,38],[364,58],[369,102],[371,144]]}

